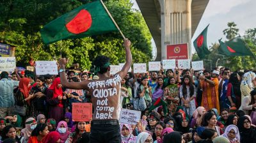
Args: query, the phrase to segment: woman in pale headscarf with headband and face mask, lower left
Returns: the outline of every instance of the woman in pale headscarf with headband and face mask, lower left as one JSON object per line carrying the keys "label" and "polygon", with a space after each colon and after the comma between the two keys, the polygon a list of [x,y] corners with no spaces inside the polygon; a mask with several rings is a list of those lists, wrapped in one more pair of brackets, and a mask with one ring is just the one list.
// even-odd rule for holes
{"label": "woman in pale headscarf with headband and face mask, lower left", "polygon": [[28,142],[29,137],[31,136],[32,131],[36,128],[37,122],[33,117],[26,119],[25,128],[21,130],[20,135],[24,137],[25,142]]}

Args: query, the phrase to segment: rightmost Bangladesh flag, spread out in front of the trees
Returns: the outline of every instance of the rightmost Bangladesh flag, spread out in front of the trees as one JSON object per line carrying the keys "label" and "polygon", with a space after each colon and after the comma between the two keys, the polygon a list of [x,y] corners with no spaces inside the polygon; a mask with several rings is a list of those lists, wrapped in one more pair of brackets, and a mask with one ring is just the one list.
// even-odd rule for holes
{"label": "rightmost Bangladesh flag, spread out in front of the trees", "polygon": [[246,46],[246,43],[240,36],[223,43],[219,40],[220,47],[218,51],[225,56],[253,56],[252,51]]}

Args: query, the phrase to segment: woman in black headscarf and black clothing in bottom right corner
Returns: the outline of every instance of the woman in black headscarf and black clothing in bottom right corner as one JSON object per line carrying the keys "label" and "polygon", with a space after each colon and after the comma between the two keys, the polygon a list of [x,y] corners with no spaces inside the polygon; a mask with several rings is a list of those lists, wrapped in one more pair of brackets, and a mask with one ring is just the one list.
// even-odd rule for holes
{"label": "woman in black headscarf and black clothing in bottom right corner", "polygon": [[250,119],[248,117],[239,117],[237,127],[240,132],[241,143],[256,142],[256,128],[252,126]]}

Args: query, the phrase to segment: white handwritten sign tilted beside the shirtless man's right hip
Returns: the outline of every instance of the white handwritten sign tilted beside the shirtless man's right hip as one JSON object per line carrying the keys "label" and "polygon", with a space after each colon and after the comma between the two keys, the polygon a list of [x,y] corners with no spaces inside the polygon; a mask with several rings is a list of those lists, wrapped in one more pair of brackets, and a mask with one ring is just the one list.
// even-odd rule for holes
{"label": "white handwritten sign tilted beside the shirtless man's right hip", "polygon": [[120,123],[136,124],[140,121],[141,112],[138,110],[121,109]]}

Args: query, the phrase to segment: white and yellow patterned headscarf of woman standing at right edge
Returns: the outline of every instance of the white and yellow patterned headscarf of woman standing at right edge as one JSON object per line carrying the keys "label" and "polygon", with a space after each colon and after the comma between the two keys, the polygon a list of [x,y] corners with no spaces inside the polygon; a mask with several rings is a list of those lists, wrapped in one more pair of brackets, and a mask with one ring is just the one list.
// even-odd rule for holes
{"label": "white and yellow patterned headscarf of woman standing at right edge", "polygon": [[243,98],[245,96],[249,96],[250,92],[253,90],[253,80],[255,80],[256,74],[254,72],[247,72],[244,73],[243,79],[241,81],[241,100],[243,101]]}

